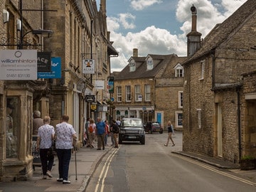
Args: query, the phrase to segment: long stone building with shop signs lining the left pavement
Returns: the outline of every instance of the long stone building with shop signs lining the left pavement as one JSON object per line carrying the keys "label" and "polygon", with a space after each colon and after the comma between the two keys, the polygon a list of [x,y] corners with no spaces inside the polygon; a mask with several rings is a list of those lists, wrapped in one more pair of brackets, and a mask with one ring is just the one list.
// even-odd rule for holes
{"label": "long stone building with shop signs lining the left pavement", "polygon": [[[32,176],[38,158],[32,141],[36,136],[31,132],[33,111],[40,110],[42,117],[49,115],[53,126],[60,122],[62,114],[68,114],[80,139],[79,146],[82,145],[85,119],[96,115],[107,118],[97,100],[102,104],[110,97],[110,56],[118,53],[107,31],[105,0],[100,1],[99,10],[95,0],[0,3],[4,10],[4,22],[0,22],[1,51],[29,51],[28,55],[35,55],[37,60],[36,73],[28,74],[36,74],[35,79],[6,80],[1,76],[0,80],[0,181],[26,180]],[[42,53],[50,53],[52,61],[47,64],[50,71],[43,71],[43,75],[39,73]],[[55,58],[57,63],[53,62]],[[95,61],[95,73],[82,71],[84,60]],[[55,66],[60,69],[53,71]],[[59,77],[55,76],[57,73]],[[103,84],[100,88],[96,87],[99,80]],[[87,100],[86,95],[93,100]]]}

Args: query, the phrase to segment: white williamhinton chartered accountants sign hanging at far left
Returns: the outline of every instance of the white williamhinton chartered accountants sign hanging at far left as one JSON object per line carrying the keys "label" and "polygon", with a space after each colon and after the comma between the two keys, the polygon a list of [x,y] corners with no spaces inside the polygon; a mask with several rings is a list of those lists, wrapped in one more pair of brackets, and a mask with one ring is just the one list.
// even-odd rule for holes
{"label": "white williamhinton chartered accountants sign hanging at far left", "polygon": [[36,50],[0,50],[0,80],[37,80]]}

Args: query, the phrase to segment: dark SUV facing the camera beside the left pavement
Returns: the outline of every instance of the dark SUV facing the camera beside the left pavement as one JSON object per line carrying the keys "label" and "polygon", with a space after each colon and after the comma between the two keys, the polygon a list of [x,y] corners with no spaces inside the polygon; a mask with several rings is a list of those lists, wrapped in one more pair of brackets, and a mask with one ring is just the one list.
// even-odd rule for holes
{"label": "dark SUV facing the camera beside the left pavement", "polygon": [[145,144],[145,131],[143,128],[142,119],[122,119],[118,143],[122,144],[124,141],[141,142],[141,144]]}

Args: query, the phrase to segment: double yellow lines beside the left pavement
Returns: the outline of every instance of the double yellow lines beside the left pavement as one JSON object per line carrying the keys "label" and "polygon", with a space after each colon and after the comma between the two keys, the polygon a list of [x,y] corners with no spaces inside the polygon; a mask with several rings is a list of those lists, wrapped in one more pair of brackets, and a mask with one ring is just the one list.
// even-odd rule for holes
{"label": "double yellow lines beside the left pavement", "polygon": [[[98,178],[97,181],[97,185],[95,187],[95,192],[98,191],[99,186],[101,185],[100,191],[102,192],[104,190],[104,186],[105,186],[105,178],[107,177],[107,171],[110,168],[110,163],[112,162],[112,159],[114,158],[114,155],[117,153],[119,148],[114,149],[114,151],[112,151],[112,153],[110,154],[110,156],[107,157],[107,160],[105,161],[105,164],[102,168],[102,171],[100,172],[100,176]],[[104,174],[104,176],[102,177],[102,175]],[[100,183],[101,181],[101,183]]]}

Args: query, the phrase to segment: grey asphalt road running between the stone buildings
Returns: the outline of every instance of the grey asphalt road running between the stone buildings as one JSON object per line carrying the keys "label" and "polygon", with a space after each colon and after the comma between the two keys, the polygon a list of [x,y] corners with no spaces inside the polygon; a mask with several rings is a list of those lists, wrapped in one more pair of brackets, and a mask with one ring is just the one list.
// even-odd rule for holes
{"label": "grey asphalt road running between the stone buildings", "polygon": [[172,154],[181,150],[182,134],[176,132],[176,146],[164,146],[167,134],[146,134],[146,144],[125,143],[111,149],[95,170],[87,192],[155,191],[256,191],[255,183],[208,164]]}

